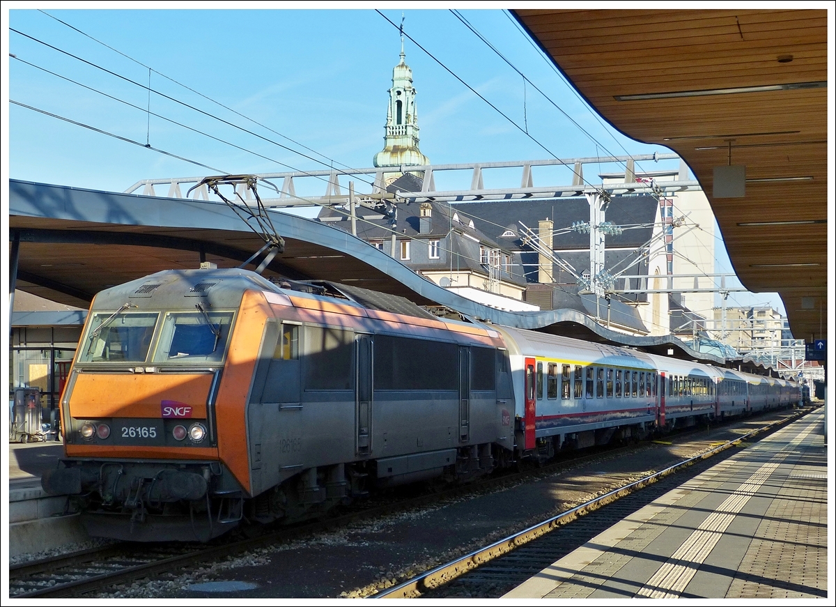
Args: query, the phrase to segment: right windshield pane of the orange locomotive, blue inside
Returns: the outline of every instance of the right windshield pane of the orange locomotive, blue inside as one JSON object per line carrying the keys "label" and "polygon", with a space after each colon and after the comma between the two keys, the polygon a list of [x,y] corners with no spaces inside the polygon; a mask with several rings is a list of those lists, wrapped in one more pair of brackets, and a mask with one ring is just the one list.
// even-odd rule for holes
{"label": "right windshield pane of the orange locomotive, blue inside", "polygon": [[169,312],[163,319],[155,362],[220,361],[227,349],[232,312]]}

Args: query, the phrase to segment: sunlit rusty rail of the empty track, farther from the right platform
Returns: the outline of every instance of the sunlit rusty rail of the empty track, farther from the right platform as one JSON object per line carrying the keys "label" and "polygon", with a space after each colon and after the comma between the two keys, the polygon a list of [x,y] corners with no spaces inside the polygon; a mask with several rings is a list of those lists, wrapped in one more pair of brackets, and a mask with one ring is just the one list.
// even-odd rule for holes
{"label": "sunlit rusty rail of the empty track, farther from the right platform", "polygon": [[395,584],[388,589],[384,589],[379,593],[372,595],[370,598],[409,599],[414,598],[416,595],[422,594],[427,590],[435,589],[438,586],[447,584],[453,579],[459,577],[461,574],[465,574],[472,569],[477,568],[479,565],[486,564],[503,554],[511,552],[514,548],[518,548],[533,539],[539,538],[546,533],[563,527],[563,525],[571,523],[573,520],[584,516],[586,513],[597,510],[610,502],[614,502],[619,499],[619,497],[624,497],[632,492],[638,491],[639,489],[656,482],[662,477],[666,477],[678,470],[681,470],[682,468],[689,467],[698,461],[706,460],[721,451],[726,451],[726,449],[730,449],[732,446],[737,446],[741,442],[748,441],[764,432],[777,430],[777,428],[786,426],[787,424],[806,416],[810,411],[813,411],[814,408],[815,407],[806,407],[803,410],[798,411],[798,413],[793,416],[788,416],[782,420],[774,421],[767,426],[747,432],[732,441],[727,441],[723,445],[704,451],[695,457],[689,457],[688,459],[676,463],[673,466],[666,467],[664,470],[654,472],[653,474],[640,478],[638,481],[630,482],[623,487],[614,489],[602,496],[595,497],[594,499],[589,500],[589,502],[584,502],[563,513],[547,518],[541,523],[535,523],[531,527],[525,528],[520,532],[513,533],[507,538],[497,540],[484,548],[478,548],[471,553],[467,553],[458,559],[453,559],[449,563],[441,564],[438,567],[430,569],[429,571],[415,576],[412,579],[408,579],[401,584]]}

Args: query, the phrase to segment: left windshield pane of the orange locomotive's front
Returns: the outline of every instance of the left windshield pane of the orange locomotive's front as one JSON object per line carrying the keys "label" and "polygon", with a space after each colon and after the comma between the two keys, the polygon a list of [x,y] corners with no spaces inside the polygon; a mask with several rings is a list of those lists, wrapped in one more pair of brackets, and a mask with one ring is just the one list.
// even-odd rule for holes
{"label": "left windshield pane of the orange locomotive's front", "polygon": [[84,362],[145,362],[159,314],[99,312],[89,321],[87,343],[79,348]]}

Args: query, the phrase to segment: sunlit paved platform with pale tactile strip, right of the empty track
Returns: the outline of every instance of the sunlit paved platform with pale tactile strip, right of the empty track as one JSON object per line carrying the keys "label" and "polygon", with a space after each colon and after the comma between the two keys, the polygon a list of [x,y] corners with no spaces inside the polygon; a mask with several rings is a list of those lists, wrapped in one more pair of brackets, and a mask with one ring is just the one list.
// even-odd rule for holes
{"label": "sunlit paved platform with pale tactile strip, right of the empty track", "polygon": [[503,598],[827,598],[823,424],[820,408],[747,446]]}

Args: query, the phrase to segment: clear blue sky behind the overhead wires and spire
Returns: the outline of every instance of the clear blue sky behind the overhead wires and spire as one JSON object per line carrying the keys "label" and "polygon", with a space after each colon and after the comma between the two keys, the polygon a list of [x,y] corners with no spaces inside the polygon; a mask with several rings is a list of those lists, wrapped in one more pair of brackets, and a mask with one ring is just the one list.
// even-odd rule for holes
{"label": "clear blue sky behind the overhead wires and spire", "polygon": [[[6,10],[3,18],[8,27],[20,32],[4,28],[8,52],[16,55],[16,59],[8,59],[3,76],[8,79],[4,82],[8,99],[140,144],[132,145],[9,104],[3,110],[4,149],[8,151],[4,161],[8,162],[6,174],[13,178],[124,191],[140,179],[214,172],[145,149],[141,145],[146,142],[158,150],[228,173],[314,170],[330,166],[331,162],[334,166],[368,167],[372,156],[382,148],[386,91],[391,84],[392,67],[398,61],[400,36],[397,27],[371,8],[84,8],[46,9],[48,14],[44,14],[30,8],[33,5],[8,4],[13,10]],[[400,9],[380,9],[380,13],[400,23]],[[548,99],[533,90],[531,84],[523,86],[522,76],[455,14],[440,9],[404,11],[405,33],[437,59],[406,39],[406,60],[418,91],[421,151],[432,163],[668,151],[629,140],[594,115],[507,12],[462,10],[461,15]],[[149,99],[148,91],[138,85],[148,85],[149,80],[155,91],[205,114],[161,94],[153,93]],[[263,126],[248,122],[197,93]],[[149,107],[155,114],[237,147],[153,115],[149,117]],[[532,137],[508,119],[527,125]],[[573,125],[572,120],[589,135]],[[641,163],[637,168],[654,170],[660,165]],[[436,184],[446,185],[437,181]],[[467,187],[469,181],[449,185]],[[490,182],[486,186],[491,186]],[[730,272],[725,251],[720,242],[717,245],[716,272]],[[782,309],[780,298],[769,293],[733,294],[729,303],[762,302]]]}

